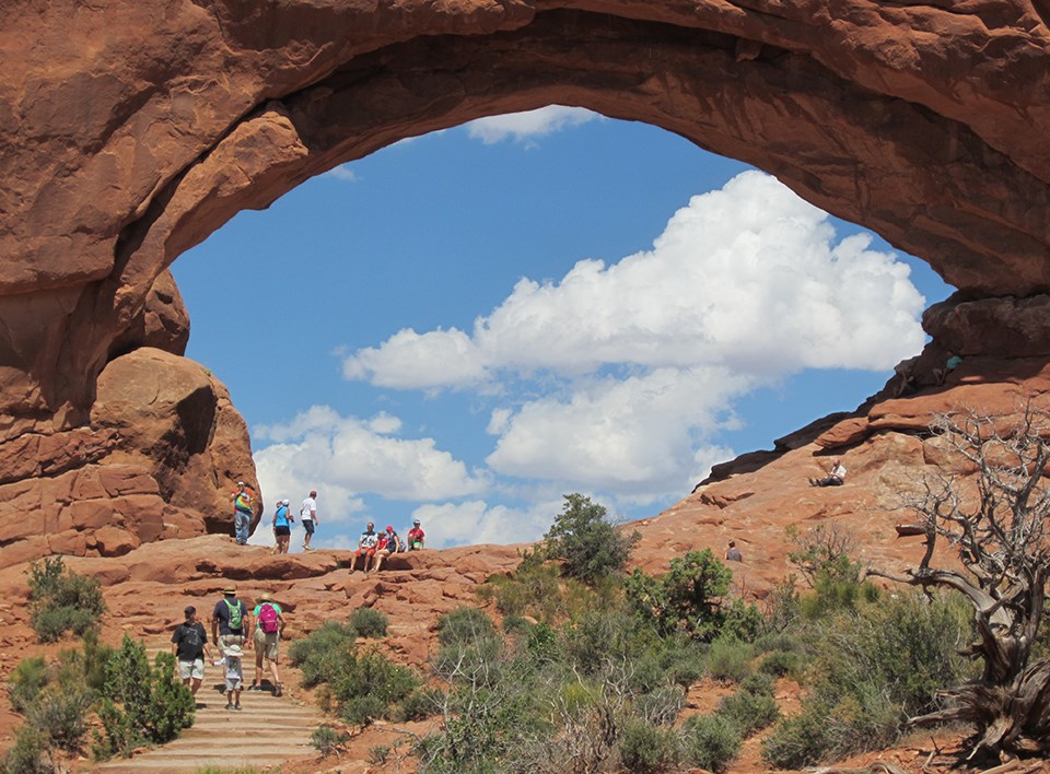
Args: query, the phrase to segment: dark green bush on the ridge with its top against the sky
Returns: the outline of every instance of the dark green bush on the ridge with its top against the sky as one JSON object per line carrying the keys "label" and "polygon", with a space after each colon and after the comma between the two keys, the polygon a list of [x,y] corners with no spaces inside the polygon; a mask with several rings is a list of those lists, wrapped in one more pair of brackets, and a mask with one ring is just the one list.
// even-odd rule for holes
{"label": "dark green bush on the ridge with its top against the sky", "polygon": [[544,536],[544,555],[562,563],[565,575],[594,584],[623,572],[638,531],[623,535],[606,518],[606,509],[582,494],[567,494],[561,513]]}

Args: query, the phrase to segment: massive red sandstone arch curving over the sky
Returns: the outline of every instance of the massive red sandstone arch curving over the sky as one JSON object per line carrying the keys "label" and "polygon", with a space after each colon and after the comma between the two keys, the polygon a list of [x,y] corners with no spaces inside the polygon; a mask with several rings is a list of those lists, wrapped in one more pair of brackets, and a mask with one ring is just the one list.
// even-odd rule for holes
{"label": "massive red sandstone arch curving over the sky", "polygon": [[[136,496],[188,507],[196,485],[173,482],[192,476],[221,490],[177,433],[168,460],[93,421],[110,361],[185,348],[166,268],[240,210],[486,115],[646,121],[878,232],[970,301],[1050,290],[1050,31],[1030,2],[57,0],[7,9],[0,50],[3,485],[119,450],[156,484]],[[218,529],[209,497],[187,518]],[[163,537],[164,518],[128,539]],[[96,550],[56,540],[0,546]]]}

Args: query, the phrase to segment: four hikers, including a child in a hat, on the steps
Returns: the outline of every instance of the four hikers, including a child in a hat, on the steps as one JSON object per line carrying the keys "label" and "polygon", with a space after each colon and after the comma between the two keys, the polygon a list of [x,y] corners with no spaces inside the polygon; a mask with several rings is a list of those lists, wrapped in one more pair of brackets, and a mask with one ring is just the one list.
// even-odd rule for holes
{"label": "four hikers, including a child in a hat, on the steps", "polygon": [[[172,654],[178,662],[178,676],[189,688],[196,701],[197,691],[205,679],[205,660],[212,666],[222,667],[226,710],[241,710],[241,691],[244,685],[245,650],[255,650],[255,679],[248,691],[261,691],[264,662],[270,672],[270,684],[275,696],[283,694],[281,675],[278,670],[280,640],[284,631],[284,613],[269,594],[259,596],[252,612],[243,599],[237,598],[237,589],[228,586],[211,613],[211,641],[219,648],[220,658],[212,660],[208,634],[197,618],[197,608],[189,605],[185,609],[186,620],[175,628],[172,634]],[[203,706],[198,704],[197,706]]]}

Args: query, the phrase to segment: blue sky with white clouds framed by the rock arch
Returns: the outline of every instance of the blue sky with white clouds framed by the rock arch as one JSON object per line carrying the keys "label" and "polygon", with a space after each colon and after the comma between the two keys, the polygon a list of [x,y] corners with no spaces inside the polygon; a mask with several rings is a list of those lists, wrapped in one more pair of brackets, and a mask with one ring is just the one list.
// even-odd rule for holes
{"label": "blue sky with white clouds framed by the rock arch", "polygon": [[346,164],[173,271],[267,517],[317,489],[318,547],[535,540],[569,492],[652,516],[859,404],[950,292],[768,175],[560,107]]}

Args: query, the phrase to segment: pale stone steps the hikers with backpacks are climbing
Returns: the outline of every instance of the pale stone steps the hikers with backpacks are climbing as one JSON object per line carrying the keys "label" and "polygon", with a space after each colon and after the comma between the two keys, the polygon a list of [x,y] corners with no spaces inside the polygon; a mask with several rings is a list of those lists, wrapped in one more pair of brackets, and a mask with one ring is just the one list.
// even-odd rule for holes
{"label": "pale stone steps the hikers with backpacks are climbing", "polygon": [[[150,649],[155,653],[160,648]],[[254,670],[255,659],[249,652],[245,658],[245,684],[250,684]],[[264,685],[269,683],[264,681]],[[211,767],[265,771],[277,770],[293,759],[316,755],[310,738],[325,717],[313,706],[290,697],[287,688],[280,699],[269,691],[242,691],[240,712],[225,708],[226,696],[222,691],[220,668],[209,666],[205,683],[197,692],[198,704],[206,706],[198,706],[192,727],[167,744],[132,758],[114,759],[93,771],[106,774],[175,774]]]}

